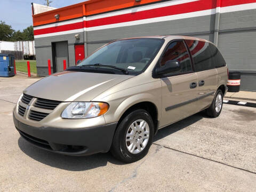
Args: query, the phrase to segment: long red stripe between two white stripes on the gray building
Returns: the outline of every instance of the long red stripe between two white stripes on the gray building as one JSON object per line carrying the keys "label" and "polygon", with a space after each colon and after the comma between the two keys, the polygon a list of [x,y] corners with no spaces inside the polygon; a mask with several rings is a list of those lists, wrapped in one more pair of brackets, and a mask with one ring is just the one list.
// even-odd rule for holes
{"label": "long red stripe between two white stripes on the gray building", "polygon": [[[223,1],[222,0],[221,7],[255,3],[255,2],[256,0],[243,0],[243,1],[241,0]],[[34,30],[34,35],[42,35],[42,34],[56,33],[56,32],[67,31],[67,30],[82,29],[84,27],[87,27],[87,28],[98,27],[98,26],[111,25],[111,24],[122,23],[122,22],[137,21],[137,20],[158,18],[158,17],[164,17],[164,16],[176,15],[176,14],[182,14],[182,13],[191,13],[196,11],[210,10],[210,9],[215,9],[216,7],[215,3],[216,2],[213,3],[212,1],[209,1],[209,0],[201,0],[196,2],[171,5],[167,7],[160,7],[157,9],[115,15],[107,18],[76,22],[76,23],[71,23],[71,24],[62,25],[62,26],[36,29]]]}

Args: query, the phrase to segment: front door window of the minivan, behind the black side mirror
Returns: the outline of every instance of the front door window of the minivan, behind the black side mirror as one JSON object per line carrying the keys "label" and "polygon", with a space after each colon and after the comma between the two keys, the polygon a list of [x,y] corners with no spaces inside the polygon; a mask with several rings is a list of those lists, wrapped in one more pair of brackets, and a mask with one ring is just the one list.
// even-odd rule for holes
{"label": "front door window of the minivan, behind the black side mirror", "polygon": [[183,41],[172,42],[167,47],[162,59],[160,60],[160,67],[167,65],[167,61],[170,60],[179,61],[181,69],[179,71],[174,71],[173,73],[170,73],[168,75],[177,75],[192,71],[190,57]]}

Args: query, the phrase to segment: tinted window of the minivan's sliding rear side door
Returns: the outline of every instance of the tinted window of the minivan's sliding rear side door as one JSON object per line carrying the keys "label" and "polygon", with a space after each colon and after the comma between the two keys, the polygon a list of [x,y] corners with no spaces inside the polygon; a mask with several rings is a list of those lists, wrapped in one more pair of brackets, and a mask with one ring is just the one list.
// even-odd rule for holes
{"label": "tinted window of the minivan's sliding rear side door", "polygon": [[185,40],[195,63],[195,71],[215,68],[210,50],[210,43],[195,40]]}

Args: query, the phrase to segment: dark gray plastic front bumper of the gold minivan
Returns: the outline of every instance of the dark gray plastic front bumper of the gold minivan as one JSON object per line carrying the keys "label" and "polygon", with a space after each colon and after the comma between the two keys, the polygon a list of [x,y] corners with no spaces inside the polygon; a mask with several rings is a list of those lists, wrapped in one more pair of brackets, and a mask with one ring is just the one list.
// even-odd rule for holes
{"label": "dark gray plastic front bumper of the gold minivan", "polygon": [[79,129],[34,127],[20,122],[15,115],[13,122],[21,137],[32,145],[54,153],[73,156],[109,151],[117,125],[115,122]]}

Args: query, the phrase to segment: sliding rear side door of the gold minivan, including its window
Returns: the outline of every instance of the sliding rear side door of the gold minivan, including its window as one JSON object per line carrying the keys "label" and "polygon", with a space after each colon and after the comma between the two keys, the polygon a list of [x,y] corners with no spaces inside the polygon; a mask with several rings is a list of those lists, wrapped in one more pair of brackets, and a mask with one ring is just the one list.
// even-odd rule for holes
{"label": "sliding rear side door of the gold minivan, including its window", "polygon": [[217,89],[217,70],[211,54],[210,43],[186,40],[198,77],[197,106],[202,110],[211,105]]}

